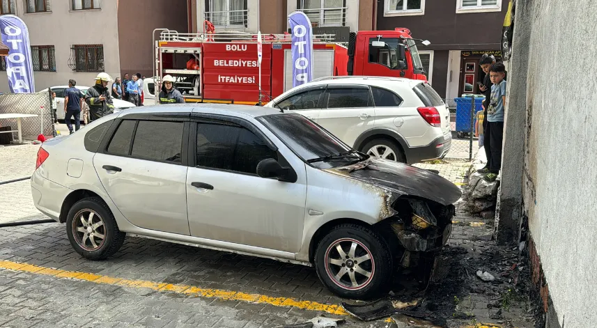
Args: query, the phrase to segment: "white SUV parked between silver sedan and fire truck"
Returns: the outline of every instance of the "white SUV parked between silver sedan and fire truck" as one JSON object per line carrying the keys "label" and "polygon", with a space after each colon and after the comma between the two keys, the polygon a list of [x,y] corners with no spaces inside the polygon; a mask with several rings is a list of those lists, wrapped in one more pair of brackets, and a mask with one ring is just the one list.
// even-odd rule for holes
{"label": "white SUV parked between silver sedan and fire truck", "polygon": [[443,158],[452,141],[446,105],[419,80],[324,77],[265,106],[302,114],[356,150],[396,162]]}

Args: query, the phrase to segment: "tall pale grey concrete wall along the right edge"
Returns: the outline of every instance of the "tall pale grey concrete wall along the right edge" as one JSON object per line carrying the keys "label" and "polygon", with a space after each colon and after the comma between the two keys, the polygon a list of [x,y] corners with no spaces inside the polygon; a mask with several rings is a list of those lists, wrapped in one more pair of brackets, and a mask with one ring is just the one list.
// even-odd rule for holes
{"label": "tall pale grey concrete wall along the right edge", "polygon": [[[597,321],[597,61],[591,42],[597,2],[569,4],[518,0],[515,29],[528,34],[530,57],[516,84],[526,87],[526,105],[509,111],[526,116],[524,211],[547,283],[542,290],[553,302],[549,312],[557,313],[548,315],[548,327],[576,328]],[[526,26],[519,15],[527,17]],[[526,69],[514,62],[512,70]]]}

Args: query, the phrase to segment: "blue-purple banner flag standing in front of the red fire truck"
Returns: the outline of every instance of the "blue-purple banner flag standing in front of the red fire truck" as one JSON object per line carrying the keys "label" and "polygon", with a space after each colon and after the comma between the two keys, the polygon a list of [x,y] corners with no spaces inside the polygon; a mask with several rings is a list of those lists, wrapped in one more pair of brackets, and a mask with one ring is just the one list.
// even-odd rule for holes
{"label": "blue-purple banner flag standing in front of the red fire truck", "polygon": [[292,31],[293,87],[313,79],[313,30],[309,17],[302,11],[288,15]]}

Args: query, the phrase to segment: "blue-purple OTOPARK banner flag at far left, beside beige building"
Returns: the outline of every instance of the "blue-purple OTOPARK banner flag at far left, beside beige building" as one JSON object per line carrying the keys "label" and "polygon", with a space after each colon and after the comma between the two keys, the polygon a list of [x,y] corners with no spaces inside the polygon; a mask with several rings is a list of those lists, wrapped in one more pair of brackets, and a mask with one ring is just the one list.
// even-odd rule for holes
{"label": "blue-purple OTOPARK banner flag at far left, beside beige building", "polygon": [[2,42],[9,49],[8,56],[4,59],[10,92],[35,93],[36,84],[33,80],[31,45],[29,44],[27,26],[15,15],[1,15],[0,33]]}

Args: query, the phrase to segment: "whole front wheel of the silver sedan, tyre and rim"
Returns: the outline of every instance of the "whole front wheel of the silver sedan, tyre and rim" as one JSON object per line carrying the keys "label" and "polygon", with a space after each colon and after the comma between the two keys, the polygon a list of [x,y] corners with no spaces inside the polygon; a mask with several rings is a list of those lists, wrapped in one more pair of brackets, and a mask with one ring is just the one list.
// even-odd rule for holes
{"label": "whole front wheel of the silver sedan, tyre and rim", "polygon": [[334,294],[353,299],[380,295],[394,267],[389,246],[364,226],[341,224],[320,240],[314,265],[319,279]]}

